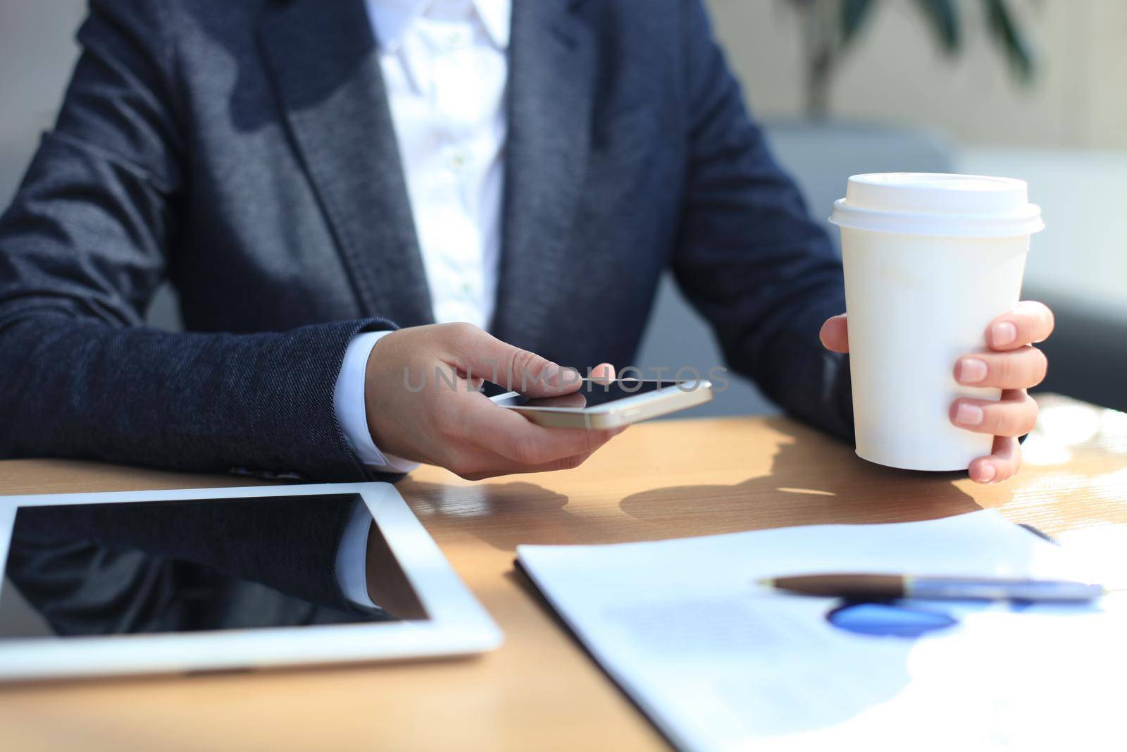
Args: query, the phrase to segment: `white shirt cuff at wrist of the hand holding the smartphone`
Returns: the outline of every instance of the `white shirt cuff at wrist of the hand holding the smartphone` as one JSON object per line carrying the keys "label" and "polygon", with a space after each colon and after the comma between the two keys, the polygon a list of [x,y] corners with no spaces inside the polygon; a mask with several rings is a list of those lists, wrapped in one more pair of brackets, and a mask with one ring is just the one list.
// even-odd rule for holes
{"label": "white shirt cuff at wrist of the hand holding the smartphone", "polygon": [[391,331],[365,331],[353,337],[345,350],[345,360],[337,374],[337,384],[332,390],[332,409],[337,415],[337,424],[345,434],[348,448],[353,450],[364,467],[381,472],[410,472],[419,466],[392,454],[381,452],[372,434],[367,430],[367,413],[364,409],[365,374],[367,359],[375,343]]}

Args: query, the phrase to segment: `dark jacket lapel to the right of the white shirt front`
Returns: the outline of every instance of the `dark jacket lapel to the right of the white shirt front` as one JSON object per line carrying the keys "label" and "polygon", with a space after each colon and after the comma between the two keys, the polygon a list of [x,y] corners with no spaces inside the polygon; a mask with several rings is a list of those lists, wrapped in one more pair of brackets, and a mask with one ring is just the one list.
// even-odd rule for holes
{"label": "dark jacket lapel to the right of the white shirt front", "polygon": [[505,216],[497,313],[536,350],[567,287],[567,251],[591,150],[595,44],[575,0],[517,0],[509,44]]}

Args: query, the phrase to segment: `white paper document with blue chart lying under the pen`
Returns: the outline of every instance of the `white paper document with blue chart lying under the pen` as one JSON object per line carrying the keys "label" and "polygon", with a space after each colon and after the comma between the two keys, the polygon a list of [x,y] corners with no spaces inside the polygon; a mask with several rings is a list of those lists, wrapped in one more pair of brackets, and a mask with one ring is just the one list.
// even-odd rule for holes
{"label": "white paper document with blue chart lying under the pen", "polygon": [[832,613],[834,599],[755,584],[833,572],[1092,577],[996,512],[521,546],[517,557],[680,749],[1127,749],[1122,595],[1024,608],[904,601],[888,608],[942,625],[905,637],[835,623],[852,612]]}

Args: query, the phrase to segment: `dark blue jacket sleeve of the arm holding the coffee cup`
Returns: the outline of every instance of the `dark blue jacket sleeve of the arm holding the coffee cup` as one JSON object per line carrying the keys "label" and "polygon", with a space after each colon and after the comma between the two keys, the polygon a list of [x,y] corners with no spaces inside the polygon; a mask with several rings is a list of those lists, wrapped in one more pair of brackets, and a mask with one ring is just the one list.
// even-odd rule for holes
{"label": "dark blue jacket sleeve of the arm holding the coffee cup", "polygon": [[677,282],[731,368],[790,414],[851,439],[849,362],[818,340],[823,321],[845,310],[841,263],[752,123],[700,1],[684,7],[690,163]]}

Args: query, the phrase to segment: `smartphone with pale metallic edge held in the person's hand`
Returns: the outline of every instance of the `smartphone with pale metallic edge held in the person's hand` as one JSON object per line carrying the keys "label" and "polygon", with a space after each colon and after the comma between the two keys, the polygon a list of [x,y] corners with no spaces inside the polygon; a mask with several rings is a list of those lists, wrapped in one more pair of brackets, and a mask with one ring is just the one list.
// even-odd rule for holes
{"label": "smartphone with pale metallic edge held in the person's hand", "polygon": [[570,395],[533,399],[509,391],[490,399],[542,426],[602,431],[703,405],[712,399],[712,383],[642,379],[604,383],[584,379],[579,390]]}

